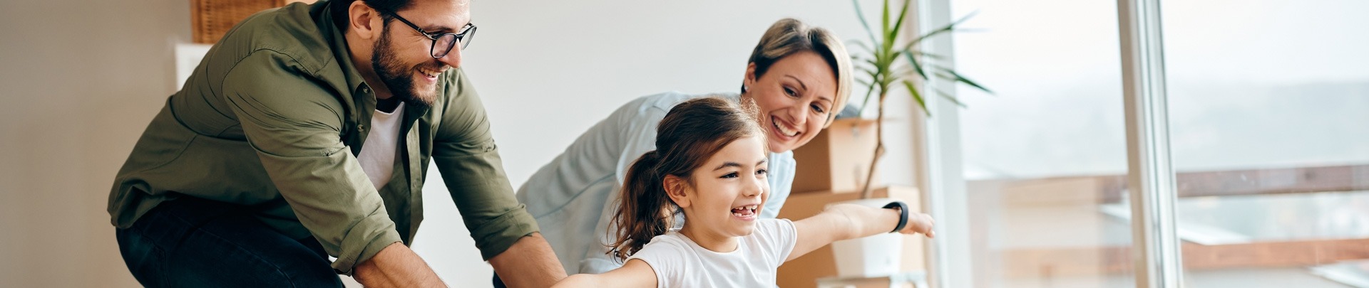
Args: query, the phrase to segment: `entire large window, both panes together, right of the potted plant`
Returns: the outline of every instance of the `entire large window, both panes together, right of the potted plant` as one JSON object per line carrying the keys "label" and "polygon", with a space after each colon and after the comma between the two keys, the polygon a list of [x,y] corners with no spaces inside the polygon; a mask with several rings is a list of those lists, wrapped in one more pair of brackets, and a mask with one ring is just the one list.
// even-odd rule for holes
{"label": "entire large window, both panes together, right of the potted plant", "polygon": [[[1166,287],[1131,258],[1132,220],[1166,218],[1180,253],[1146,263],[1181,268],[1187,287],[1369,287],[1369,3],[1164,1],[1127,22],[1131,1],[931,3],[934,19],[979,12],[964,27],[984,31],[956,34],[951,52],[997,91],[954,89],[968,108],[928,123],[943,158],[931,175],[961,173],[930,177],[931,198],[956,199],[934,209],[969,218],[938,240],[935,269],[967,270],[939,285]],[[1124,113],[1118,27],[1154,19],[1162,45],[1139,53],[1162,55],[1162,82],[1139,85],[1164,94],[1139,97],[1164,100],[1150,135],[1168,154],[1139,161],[1168,158],[1175,192],[1138,192],[1172,212],[1134,210],[1127,183],[1128,147],[1151,147],[1125,138],[1144,116]]]}

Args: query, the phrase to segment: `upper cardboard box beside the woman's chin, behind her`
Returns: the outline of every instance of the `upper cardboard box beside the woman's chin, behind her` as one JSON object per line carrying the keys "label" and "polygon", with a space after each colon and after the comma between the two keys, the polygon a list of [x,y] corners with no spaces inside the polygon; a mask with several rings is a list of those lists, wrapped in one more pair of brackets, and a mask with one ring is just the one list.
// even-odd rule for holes
{"label": "upper cardboard box beside the woman's chin, behind her", "polygon": [[[808,145],[794,149],[793,192],[856,192],[875,157],[875,120],[839,119]],[[879,183],[879,179],[875,179]]]}

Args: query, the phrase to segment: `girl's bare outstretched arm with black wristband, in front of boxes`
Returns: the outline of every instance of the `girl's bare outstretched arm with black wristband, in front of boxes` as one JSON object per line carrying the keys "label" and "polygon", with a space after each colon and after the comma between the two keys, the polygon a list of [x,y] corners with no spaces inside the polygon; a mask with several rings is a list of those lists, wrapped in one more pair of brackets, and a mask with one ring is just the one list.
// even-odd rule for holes
{"label": "girl's bare outstretched arm with black wristband, in front of boxes", "polygon": [[[784,261],[789,262],[813,250],[821,248],[832,242],[887,233],[898,225],[898,209],[869,207],[854,203],[832,205],[813,217],[794,221],[794,231],[798,240],[794,251]],[[931,216],[924,213],[908,213],[908,225],[901,233],[924,233],[932,237]]]}

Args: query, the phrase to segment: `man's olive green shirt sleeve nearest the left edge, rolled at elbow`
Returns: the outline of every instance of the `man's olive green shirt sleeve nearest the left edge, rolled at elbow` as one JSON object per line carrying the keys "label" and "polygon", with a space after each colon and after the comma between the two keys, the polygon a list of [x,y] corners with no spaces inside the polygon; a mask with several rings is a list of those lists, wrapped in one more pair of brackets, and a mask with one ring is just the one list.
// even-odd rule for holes
{"label": "man's olive green shirt sleeve nearest the left edge, rolled at elbow", "polygon": [[342,104],[300,70],[287,56],[259,51],[237,63],[222,91],[300,222],[337,257],[333,268],[350,274],[400,235],[342,143]]}

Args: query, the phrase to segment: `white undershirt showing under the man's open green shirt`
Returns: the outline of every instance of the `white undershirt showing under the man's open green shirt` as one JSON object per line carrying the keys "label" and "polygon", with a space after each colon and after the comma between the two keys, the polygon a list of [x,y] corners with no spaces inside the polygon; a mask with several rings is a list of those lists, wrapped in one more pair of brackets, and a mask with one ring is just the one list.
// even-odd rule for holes
{"label": "white undershirt showing under the man's open green shirt", "polygon": [[400,119],[404,117],[404,102],[394,108],[394,112],[385,113],[375,111],[371,115],[371,132],[361,145],[361,154],[356,160],[361,162],[361,171],[371,179],[375,190],[381,190],[390,183],[394,176],[394,149],[400,145]]}

